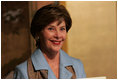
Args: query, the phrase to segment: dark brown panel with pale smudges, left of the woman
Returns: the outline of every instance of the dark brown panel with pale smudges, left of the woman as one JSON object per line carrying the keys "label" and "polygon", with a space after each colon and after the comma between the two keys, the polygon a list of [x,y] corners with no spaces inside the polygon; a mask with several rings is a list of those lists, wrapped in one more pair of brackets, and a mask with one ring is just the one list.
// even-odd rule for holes
{"label": "dark brown panel with pale smudges, left of the woman", "polygon": [[28,2],[1,2],[2,78],[31,54],[29,28]]}

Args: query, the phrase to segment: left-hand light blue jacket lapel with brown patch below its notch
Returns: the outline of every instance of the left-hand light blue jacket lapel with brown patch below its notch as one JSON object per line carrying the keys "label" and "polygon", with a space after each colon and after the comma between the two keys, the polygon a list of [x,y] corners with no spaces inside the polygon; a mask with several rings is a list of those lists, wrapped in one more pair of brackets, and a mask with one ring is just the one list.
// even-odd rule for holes
{"label": "left-hand light blue jacket lapel with brown patch below its notch", "polygon": [[[40,49],[37,49],[31,56],[33,67],[39,74],[45,74],[44,77],[48,76],[48,79],[56,79],[54,73],[52,72],[49,64],[47,63],[43,53]],[[47,75],[48,74],[48,75]],[[40,76],[40,75],[39,75]]]}

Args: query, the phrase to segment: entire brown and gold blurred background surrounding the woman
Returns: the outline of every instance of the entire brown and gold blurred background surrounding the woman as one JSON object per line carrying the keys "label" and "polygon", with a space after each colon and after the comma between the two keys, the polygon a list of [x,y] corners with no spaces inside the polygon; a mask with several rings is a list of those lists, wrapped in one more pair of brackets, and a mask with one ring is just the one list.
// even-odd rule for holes
{"label": "entire brown and gold blurred background surrounding the woman", "polygon": [[35,50],[30,23],[36,10],[62,4],[72,18],[63,50],[80,59],[89,77],[117,78],[116,1],[2,1],[1,77],[12,78],[16,65]]}

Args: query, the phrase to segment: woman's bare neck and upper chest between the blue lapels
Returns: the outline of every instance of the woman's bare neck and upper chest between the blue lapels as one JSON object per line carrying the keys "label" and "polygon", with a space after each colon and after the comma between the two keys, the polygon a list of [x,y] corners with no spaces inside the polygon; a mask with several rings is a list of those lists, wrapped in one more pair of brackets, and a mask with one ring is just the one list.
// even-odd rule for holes
{"label": "woman's bare neck and upper chest between the blue lapels", "polygon": [[56,78],[59,78],[59,64],[60,64],[60,52],[53,52],[53,51],[47,51],[42,50],[43,55],[48,62],[50,68],[52,69],[53,73],[55,74]]}

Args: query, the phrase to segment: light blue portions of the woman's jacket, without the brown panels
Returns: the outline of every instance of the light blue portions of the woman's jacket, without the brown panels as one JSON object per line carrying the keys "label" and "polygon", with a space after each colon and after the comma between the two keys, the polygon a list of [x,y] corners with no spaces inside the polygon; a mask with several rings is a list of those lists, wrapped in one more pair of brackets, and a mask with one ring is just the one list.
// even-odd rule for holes
{"label": "light blue portions of the woman's jacket, without the brown panels", "polygon": [[[37,49],[31,56],[31,60],[35,70],[46,69],[48,70],[48,79],[56,79],[52,72],[49,64],[44,58],[40,49]],[[69,72],[65,67],[73,66],[76,73],[76,78],[85,78],[85,72],[82,62],[79,59],[68,56],[64,51],[60,50],[60,79],[70,79],[72,73]],[[27,73],[27,61],[18,65],[15,69],[14,78],[16,79],[28,79]]]}

